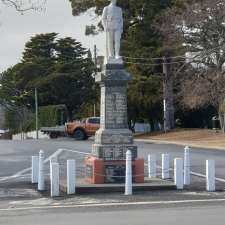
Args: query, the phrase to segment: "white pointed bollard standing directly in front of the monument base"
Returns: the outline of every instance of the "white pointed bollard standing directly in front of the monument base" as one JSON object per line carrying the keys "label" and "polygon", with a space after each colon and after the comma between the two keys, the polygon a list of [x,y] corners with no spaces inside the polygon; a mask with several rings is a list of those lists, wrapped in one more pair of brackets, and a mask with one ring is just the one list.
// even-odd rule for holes
{"label": "white pointed bollard standing directly in front of the monument base", "polygon": [[126,152],[125,195],[132,195],[132,153],[130,150]]}

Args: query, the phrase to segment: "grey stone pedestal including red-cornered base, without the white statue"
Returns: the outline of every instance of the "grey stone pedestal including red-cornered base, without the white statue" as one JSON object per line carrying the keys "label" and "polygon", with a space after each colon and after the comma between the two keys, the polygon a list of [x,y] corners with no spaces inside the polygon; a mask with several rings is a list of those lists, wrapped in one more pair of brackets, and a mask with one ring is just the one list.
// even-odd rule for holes
{"label": "grey stone pedestal including red-cornered base, without the white statue", "polygon": [[123,183],[127,150],[132,152],[134,182],[144,182],[144,160],[137,158],[137,146],[127,120],[127,83],[131,75],[123,64],[106,64],[96,75],[101,88],[100,129],[86,159],[87,179],[91,183]]}

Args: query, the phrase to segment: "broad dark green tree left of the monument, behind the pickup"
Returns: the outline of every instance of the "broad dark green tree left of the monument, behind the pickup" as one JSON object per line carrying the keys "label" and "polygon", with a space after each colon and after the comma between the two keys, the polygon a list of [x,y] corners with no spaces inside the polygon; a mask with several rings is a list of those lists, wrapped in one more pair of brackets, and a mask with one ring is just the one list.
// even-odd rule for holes
{"label": "broad dark green tree left of the monument, behind the pickup", "polygon": [[1,75],[0,98],[5,105],[34,109],[34,88],[40,106],[65,104],[70,119],[95,96],[94,66],[89,51],[72,38],[39,34],[26,43],[20,63]]}

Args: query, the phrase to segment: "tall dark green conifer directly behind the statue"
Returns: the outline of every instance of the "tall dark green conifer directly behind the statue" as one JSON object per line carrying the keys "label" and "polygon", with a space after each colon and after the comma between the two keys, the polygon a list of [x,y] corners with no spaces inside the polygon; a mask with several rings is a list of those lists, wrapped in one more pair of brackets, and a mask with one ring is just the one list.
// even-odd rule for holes
{"label": "tall dark green conifer directly behind the statue", "polygon": [[[108,0],[70,0],[74,16],[94,7],[96,15],[101,15]],[[123,8],[124,33],[121,55],[127,69],[134,77],[129,84],[128,106],[130,119],[148,121],[162,120],[162,66],[151,64],[161,63],[151,58],[163,55],[163,37],[156,26],[157,17],[175,1],[171,0],[118,0]],[[96,34],[102,30],[101,23],[88,26],[86,34]],[[143,58],[143,59],[140,59]],[[151,85],[157,85],[152,88]],[[144,94],[140,94],[141,92]],[[160,115],[160,116],[159,116]]]}

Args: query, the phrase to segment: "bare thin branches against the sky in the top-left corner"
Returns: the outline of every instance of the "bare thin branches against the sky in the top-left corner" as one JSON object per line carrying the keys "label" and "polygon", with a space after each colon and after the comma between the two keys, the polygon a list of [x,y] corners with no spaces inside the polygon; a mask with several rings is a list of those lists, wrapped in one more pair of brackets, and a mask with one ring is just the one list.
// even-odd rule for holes
{"label": "bare thin branches against the sky in the top-left corner", "polygon": [[40,10],[43,8],[46,0],[1,0],[2,4],[15,8],[18,12],[29,10]]}

